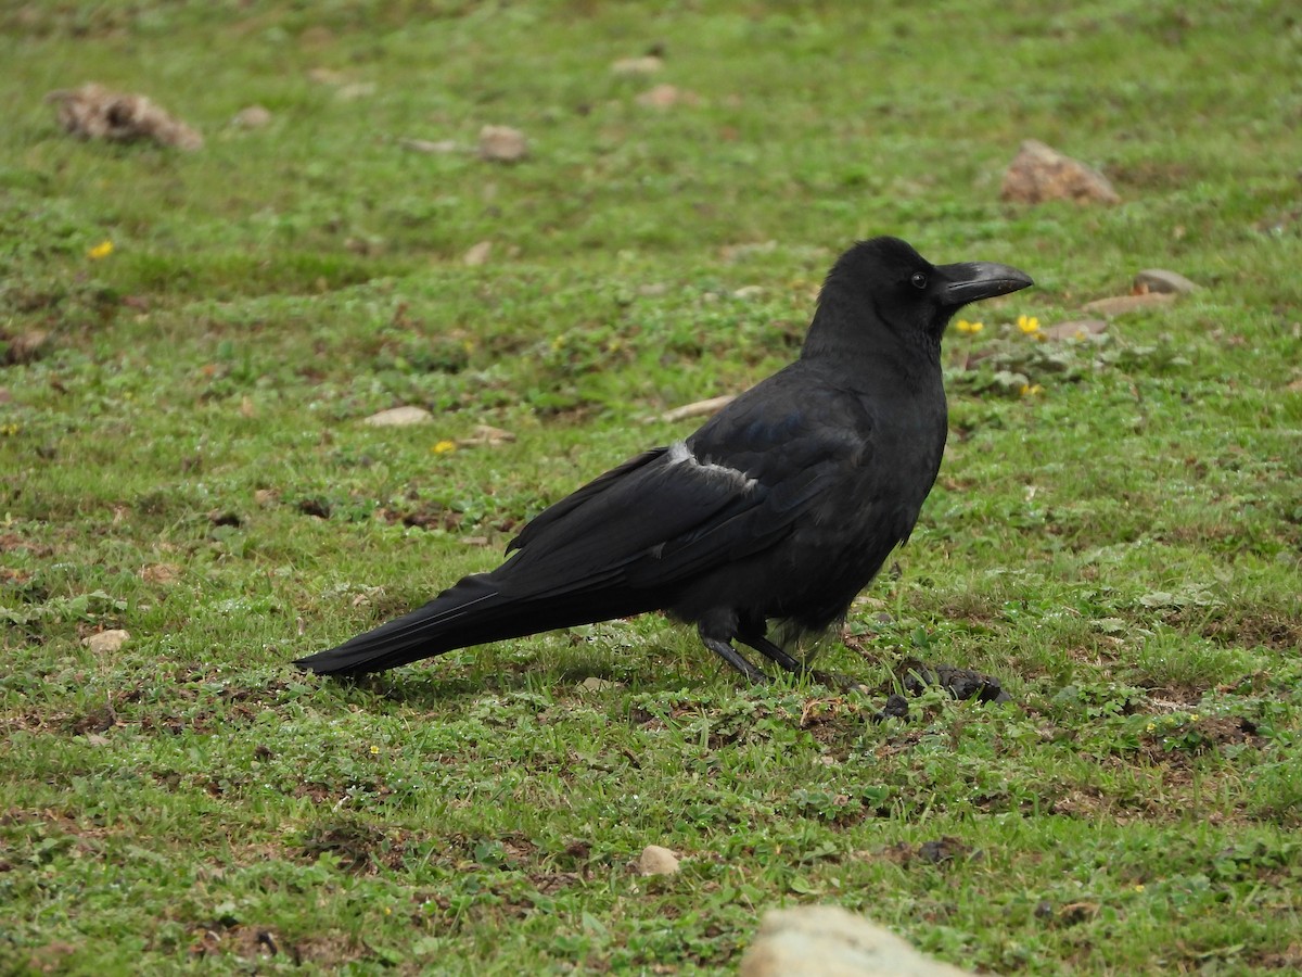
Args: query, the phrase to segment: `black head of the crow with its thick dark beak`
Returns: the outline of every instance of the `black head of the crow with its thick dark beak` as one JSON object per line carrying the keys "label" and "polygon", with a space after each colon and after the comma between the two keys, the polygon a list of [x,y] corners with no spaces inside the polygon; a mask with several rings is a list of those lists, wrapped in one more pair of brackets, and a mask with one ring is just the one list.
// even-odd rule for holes
{"label": "black head of the crow with its thick dark beak", "polygon": [[887,336],[935,348],[969,302],[1031,284],[1025,272],[993,262],[932,264],[898,237],[859,241],[828,272],[806,353],[871,353]]}

